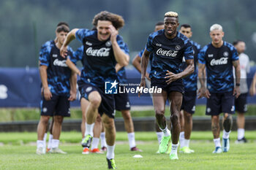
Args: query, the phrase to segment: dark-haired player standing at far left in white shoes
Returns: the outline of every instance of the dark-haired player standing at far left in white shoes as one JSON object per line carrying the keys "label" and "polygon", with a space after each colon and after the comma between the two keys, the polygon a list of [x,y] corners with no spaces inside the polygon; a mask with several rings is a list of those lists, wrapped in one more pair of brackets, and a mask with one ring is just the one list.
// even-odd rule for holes
{"label": "dark-haired player standing at far left in white shoes", "polygon": [[[56,44],[43,46],[39,53],[39,73],[42,80],[41,117],[37,126],[37,154],[45,154],[43,136],[50,116],[53,116],[53,141],[50,152],[65,154],[59,149],[61,123],[64,117],[70,116],[69,101],[76,98],[76,74],[66,65],[60,55],[60,48],[67,36],[69,28],[56,28]],[[67,47],[67,55],[72,56],[72,49]]]}

